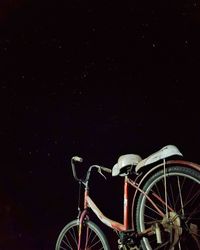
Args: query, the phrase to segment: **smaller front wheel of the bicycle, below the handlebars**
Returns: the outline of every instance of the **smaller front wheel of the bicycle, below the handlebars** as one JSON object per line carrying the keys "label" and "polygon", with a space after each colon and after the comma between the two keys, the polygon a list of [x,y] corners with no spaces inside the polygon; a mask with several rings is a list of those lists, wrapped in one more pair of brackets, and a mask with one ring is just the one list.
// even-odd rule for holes
{"label": "smaller front wheel of the bicycle, below the handlebars", "polygon": [[[68,223],[56,242],[56,250],[78,249],[79,220]],[[107,239],[102,230],[92,221],[83,223],[81,250],[110,250]]]}

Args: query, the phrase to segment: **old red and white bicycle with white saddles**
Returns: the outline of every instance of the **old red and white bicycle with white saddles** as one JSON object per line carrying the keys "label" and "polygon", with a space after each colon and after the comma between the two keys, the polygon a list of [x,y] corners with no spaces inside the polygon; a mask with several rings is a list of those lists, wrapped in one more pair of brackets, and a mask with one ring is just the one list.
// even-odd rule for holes
{"label": "old red and white bicycle with white saddles", "polygon": [[[139,155],[126,154],[119,157],[112,170],[90,166],[83,179],[77,177],[75,167],[82,158],[72,157],[73,176],[80,187],[84,186],[84,204],[83,209],[78,205],[77,219],[59,234],[56,250],[110,250],[105,234],[90,220],[90,211],[117,233],[118,249],[200,249],[200,165],[181,157],[174,145],[167,145],[143,160]],[[90,197],[93,170],[102,176],[105,172],[124,178],[123,223],[107,218]],[[130,187],[134,188],[132,205]]]}

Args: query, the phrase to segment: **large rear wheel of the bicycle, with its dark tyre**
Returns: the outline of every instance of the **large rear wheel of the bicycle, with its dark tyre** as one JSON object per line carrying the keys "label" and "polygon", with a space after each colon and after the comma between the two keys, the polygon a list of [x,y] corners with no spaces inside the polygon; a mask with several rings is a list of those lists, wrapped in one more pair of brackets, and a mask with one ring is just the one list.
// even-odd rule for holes
{"label": "large rear wheel of the bicycle, with its dark tyre", "polygon": [[163,169],[152,175],[143,187],[163,215],[145,195],[140,194],[138,199],[138,232],[154,228],[152,235],[143,237],[141,246],[148,250],[200,249],[200,173],[183,166],[171,166],[165,172],[165,176]]}

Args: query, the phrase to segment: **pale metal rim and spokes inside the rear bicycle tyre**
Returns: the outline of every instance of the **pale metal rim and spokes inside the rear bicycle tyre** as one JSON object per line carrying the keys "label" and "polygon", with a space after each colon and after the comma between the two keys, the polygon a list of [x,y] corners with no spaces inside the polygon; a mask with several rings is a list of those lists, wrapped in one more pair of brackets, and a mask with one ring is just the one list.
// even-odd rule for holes
{"label": "pale metal rim and spokes inside the rear bicycle tyre", "polygon": [[[150,202],[143,196],[141,199],[141,207],[139,211],[139,229],[144,231],[150,225],[159,223],[162,227],[162,242],[160,245],[156,242],[155,235],[149,239],[143,239],[143,245],[146,249],[169,249],[167,243],[170,236],[176,239],[174,249],[200,249],[200,180],[199,177],[189,176],[186,173],[171,172],[167,173],[167,202],[168,206],[173,209],[174,219],[170,211],[166,211],[166,206],[156,201],[156,205],[165,213],[165,217],[161,217],[152,207]],[[146,193],[155,202],[155,197],[150,195],[153,190],[158,196],[164,200],[164,178],[163,175],[157,176],[146,188]],[[171,212],[172,213],[172,212]],[[172,225],[170,225],[172,223]],[[179,225],[178,225],[179,224]],[[167,228],[168,227],[168,228]],[[170,228],[171,227],[171,228]],[[176,229],[176,234],[174,233]],[[177,229],[179,230],[177,232]],[[173,232],[169,232],[173,230]],[[174,236],[175,235],[175,236]],[[174,241],[171,240],[172,242]],[[188,247],[189,246],[189,247]]]}

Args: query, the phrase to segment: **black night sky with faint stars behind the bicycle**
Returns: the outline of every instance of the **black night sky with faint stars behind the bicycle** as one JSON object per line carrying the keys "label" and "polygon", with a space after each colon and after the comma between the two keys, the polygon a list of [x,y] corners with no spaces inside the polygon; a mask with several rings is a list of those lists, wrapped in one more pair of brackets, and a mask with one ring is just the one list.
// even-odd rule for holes
{"label": "black night sky with faint stars behind the bicycle", "polygon": [[[199,33],[197,0],[0,2],[1,250],[54,249],[75,154],[112,167],[175,144],[200,162]],[[94,178],[120,220],[122,180]]]}

